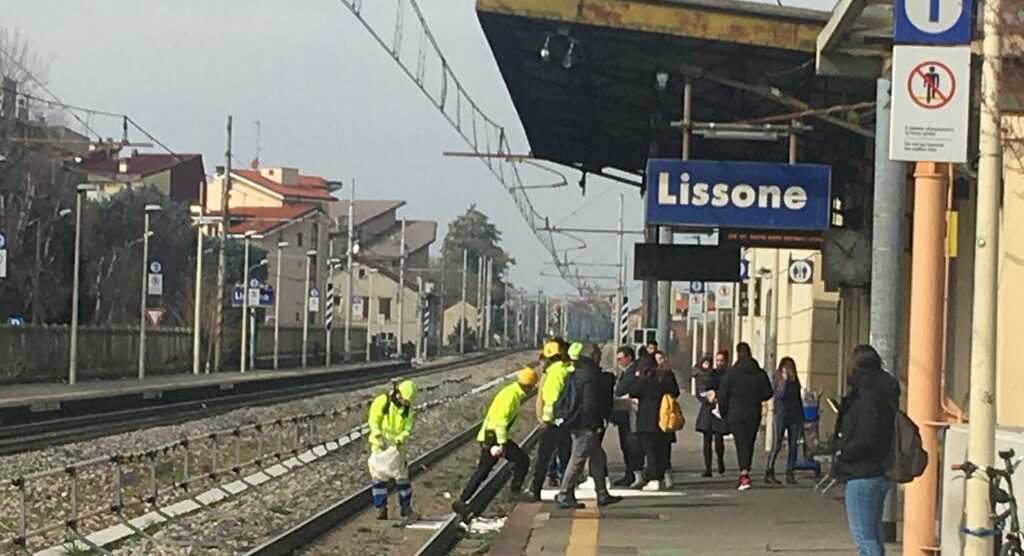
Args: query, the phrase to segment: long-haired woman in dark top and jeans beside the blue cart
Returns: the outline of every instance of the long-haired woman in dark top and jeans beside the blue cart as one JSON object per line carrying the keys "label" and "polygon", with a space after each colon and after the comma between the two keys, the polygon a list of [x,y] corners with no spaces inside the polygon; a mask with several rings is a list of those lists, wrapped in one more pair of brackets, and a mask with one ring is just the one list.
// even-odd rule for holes
{"label": "long-haired woman in dark top and jeans beside the blue cart", "polygon": [[804,426],[804,401],[803,390],[800,386],[800,377],[797,376],[797,362],[793,357],[782,357],[772,377],[772,446],[768,453],[768,462],[765,466],[765,482],[768,484],[781,484],[775,478],[775,460],[782,452],[782,440],[788,443],[788,453],[785,459],[785,483],[797,484],[797,476],[794,470],[797,467],[797,443],[800,438],[800,429]]}

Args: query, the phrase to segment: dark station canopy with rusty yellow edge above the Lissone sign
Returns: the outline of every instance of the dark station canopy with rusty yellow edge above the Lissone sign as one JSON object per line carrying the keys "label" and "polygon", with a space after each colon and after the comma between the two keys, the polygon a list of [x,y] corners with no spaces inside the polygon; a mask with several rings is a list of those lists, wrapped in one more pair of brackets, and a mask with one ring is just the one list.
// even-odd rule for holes
{"label": "dark station canopy with rusty yellow edge above the Lissone sign", "polygon": [[[834,193],[870,182],[874,80],[815,75],[828,12],[734,0],[477,0],[477,14],[537,159],[639,185],[648,158],[680,157],[689,79],[693,122],[787,125],[799,115],[812,128],[801,162],[831,165]],[[691,159],[788,159],[784,135],[712,135],[693,138]]]}

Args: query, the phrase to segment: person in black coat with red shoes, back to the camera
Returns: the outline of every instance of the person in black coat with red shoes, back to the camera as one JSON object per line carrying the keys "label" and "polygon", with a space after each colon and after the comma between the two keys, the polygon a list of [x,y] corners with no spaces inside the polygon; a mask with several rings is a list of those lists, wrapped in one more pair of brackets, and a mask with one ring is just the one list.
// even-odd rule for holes
{"label": "person in black coat with red shoes, back to the camera", "polygon": [[736,442],[739,490],[751,487],[754,443],[761,428],[761,403],[771,399],[768,375],[751,354],[745,342],[736,345],[736,362],[726,372],[719,390],[719,411]]}

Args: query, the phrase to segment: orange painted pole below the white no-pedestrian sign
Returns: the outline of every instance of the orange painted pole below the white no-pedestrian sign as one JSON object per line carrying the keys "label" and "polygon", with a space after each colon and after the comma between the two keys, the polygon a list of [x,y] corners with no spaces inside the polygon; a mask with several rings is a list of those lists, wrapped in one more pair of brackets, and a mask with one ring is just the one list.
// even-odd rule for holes
{"label": "orange painted pole below the white no-pedestrian sign", "polygon": [[910,346],[907,414],[921,427],[928,452],[925,474],[907,484],[903,497],[903,554],[937,551],[935,515],[939,491],[939,437],[942,395],[942,312],[945,276],[945,164],[919,162],[914,168],[913,246],[910,260]]}

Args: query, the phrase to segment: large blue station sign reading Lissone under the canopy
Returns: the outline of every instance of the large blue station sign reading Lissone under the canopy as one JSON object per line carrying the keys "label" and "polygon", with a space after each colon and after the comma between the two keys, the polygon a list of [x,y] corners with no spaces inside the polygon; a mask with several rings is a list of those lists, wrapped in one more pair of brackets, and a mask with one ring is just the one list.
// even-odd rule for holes
{"label": "large blue station sign reading Lissone under the canopy", "polygon": [[824,230],[831,170],[817,164],[647,161],[647,223]]}

